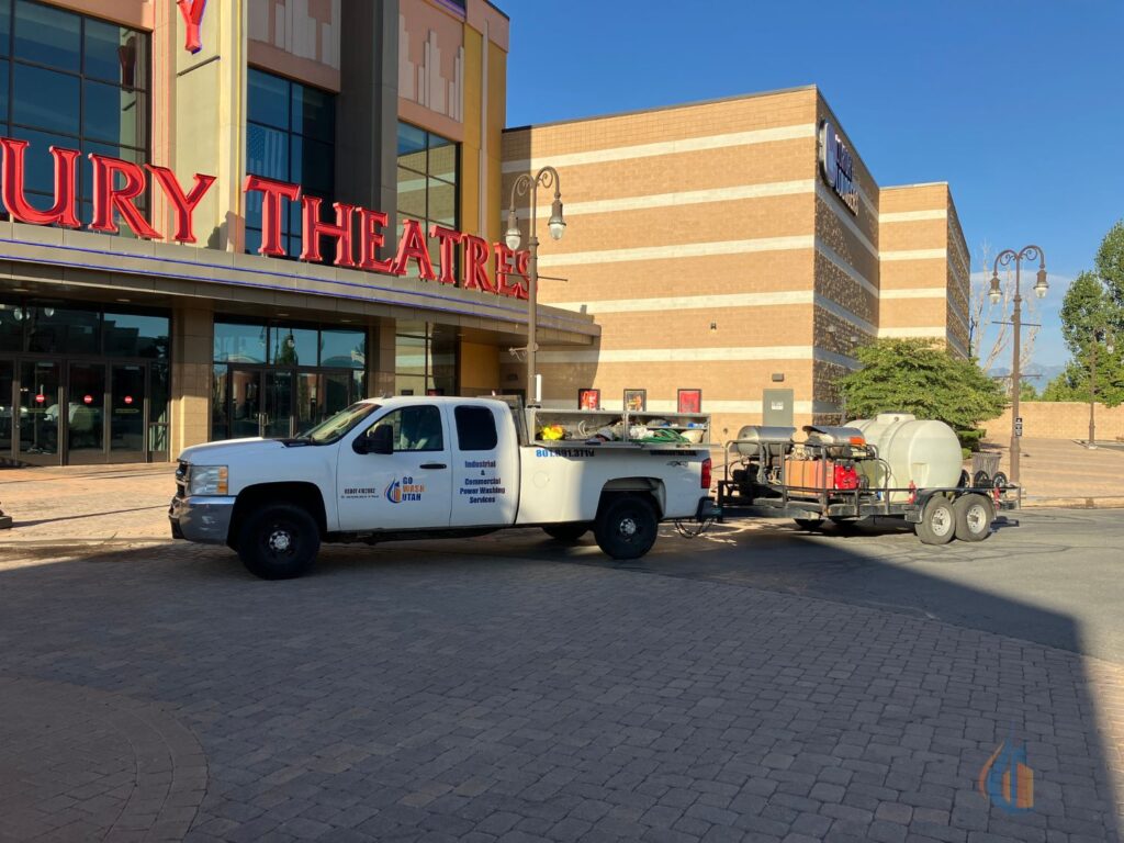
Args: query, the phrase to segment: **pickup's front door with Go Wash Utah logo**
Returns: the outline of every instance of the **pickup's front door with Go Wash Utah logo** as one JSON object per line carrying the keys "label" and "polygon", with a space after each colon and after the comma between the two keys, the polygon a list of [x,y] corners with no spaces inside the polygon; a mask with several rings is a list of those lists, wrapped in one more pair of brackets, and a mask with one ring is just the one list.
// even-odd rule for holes
{"label": "pickup's front door with Go Wash Utah logo", "polygon": [[395,452],[357,454],[339,450],[336,496],[339,529],[434,529],[448,526],[453,472],[443,408],[434,404],[398,407],[363,430],[389,426]]}

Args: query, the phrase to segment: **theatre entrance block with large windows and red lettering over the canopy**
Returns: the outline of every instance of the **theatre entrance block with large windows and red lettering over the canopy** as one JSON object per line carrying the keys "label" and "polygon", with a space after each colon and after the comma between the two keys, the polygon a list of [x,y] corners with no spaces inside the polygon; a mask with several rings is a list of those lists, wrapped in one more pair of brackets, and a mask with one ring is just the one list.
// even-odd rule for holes
{"label": "theatre entrance block with large windows and red lettering over the canopy", "polygon": [[483,0],[0,0],[0,461],[518,386],[507,46]]}

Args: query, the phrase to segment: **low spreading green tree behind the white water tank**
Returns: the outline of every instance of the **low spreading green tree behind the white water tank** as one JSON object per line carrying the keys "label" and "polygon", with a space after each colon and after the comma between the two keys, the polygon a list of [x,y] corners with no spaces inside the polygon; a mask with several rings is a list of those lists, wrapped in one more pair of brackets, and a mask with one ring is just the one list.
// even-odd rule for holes
{"label": "low spreading green tree behind the white water tank", "polygon": [[855,350],[862,368],[840,380],[847,415],[870,418],[895,410],[971,430],[1007,406],[1001,387],[975,361],[927,339],[879,339]]}

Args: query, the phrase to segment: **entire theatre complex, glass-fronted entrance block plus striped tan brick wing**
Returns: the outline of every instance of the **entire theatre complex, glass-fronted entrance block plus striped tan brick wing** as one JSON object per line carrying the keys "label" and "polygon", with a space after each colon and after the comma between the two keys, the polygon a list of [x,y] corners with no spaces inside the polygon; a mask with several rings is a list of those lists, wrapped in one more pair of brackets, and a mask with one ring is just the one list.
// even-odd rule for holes
{"label": "entire theatre complex, glass-fronted entrance block plus striped tan brick wing", "polygon": [[963,352],[948,185],[879,188],[815,89],[505,132],[509,30],[486,0],[0,0],[0,464],[524,392],[504,229],[541,164],[549,405],[720,435],[833,418],[867,338]]}

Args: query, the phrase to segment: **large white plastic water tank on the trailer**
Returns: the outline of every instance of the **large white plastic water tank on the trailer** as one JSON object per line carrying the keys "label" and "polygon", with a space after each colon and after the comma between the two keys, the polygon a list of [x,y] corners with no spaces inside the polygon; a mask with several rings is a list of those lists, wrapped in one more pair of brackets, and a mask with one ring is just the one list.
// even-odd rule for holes
{"label": "large white plastic water tank on the trailer", "polygon": [[[910,482],[918,489],[932,489],[954,487],[960,481],[960,441],[943,422],[919,420],[908,413],[880,413],[872,419],[850,422],[847,427],[862,430],[889,466],[887,478],[887,465],[873,460],[858,463],[871,489],[906,489]],[[895,493],[890,500],[907,497],[908,492]]]}

